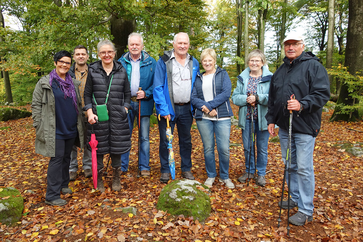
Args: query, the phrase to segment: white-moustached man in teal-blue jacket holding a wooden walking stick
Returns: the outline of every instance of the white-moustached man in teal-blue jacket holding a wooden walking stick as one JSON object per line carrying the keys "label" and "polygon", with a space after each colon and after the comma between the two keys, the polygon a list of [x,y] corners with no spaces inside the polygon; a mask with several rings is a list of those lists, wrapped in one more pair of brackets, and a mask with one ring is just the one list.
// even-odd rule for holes
{"label": "white-moustached man in teal-blue jacket holding a wooden walking stick", "polygon": [[[127,114],[130,126],[130,136],[134,128],[135,117],[140,122],[140,153],[139,167],[141,177],[150,177],[150,115],[154,111],[154,99],[152,99],[152,88],[156,61],[143,51],[143,38],[139,33],[131,33],[128,39],[129,52],[126,52],[118,60],[127,71],[127,77],[131,87],[131,107]],[[139,91],[141,87],[141,91]],[[140,120],[139,119],[139,101]],[[121,172],[127,172],[129,168],[130,151],[121,155]]]}

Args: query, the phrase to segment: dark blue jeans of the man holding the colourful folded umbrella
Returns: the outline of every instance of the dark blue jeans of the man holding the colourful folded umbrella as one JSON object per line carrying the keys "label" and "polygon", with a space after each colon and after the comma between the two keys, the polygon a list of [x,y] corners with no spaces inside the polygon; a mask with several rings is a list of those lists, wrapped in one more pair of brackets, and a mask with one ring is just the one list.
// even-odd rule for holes
{"label": "dark blue jeans of the man holding the colourful folded umbrella", "polygon": [[[175,105],[175,117],[174,120],[170,120],[169,125],[171,127],[171,133],[174,133],[174,127],[178,128],[179,137],[179,152],[181,159],[181,171],[190,171],[192,168],[192,136],[190,129],[192,128],[193,116],[190,111],[190,104],[178,106]],[[166,139],[166,119],[160,117],[159,123],[159,134],[160,134],[160,145],[159,145],[159,157],[160,157],[160,172],[170,173],[169,168],[169,151],[168,141]],[[175,143],[174,143],[175,145]]]}

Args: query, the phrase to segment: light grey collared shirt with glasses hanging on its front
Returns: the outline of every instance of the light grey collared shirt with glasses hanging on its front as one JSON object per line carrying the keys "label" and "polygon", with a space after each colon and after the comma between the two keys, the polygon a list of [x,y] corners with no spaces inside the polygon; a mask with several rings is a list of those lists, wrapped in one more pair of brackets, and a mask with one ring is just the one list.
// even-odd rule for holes
{"label": "light grey collared shirt with glasses hanging on its front", "polygon": [[190,55],[187,53],[184,65],[181,65],[175,59],[174,51],[170,56],[173,63],[172,69],[172,83],[174,103],[187,103],[190,102],[190,95],[192,93],[192,77],[189,68]]}

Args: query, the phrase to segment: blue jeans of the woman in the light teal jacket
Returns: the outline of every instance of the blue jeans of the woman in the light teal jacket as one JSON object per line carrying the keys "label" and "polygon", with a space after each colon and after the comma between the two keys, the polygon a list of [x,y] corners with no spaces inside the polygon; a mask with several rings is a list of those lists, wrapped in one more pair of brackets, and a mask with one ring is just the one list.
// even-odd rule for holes
{"label": "blue jeans of the woman in the light teal jacket", "polygon": [[[256,159],[256,168],[254,167],[254,149],[253,146],[251,149],[251,160],[250,158],[250,141],[251,141],[251,119],[246,119],[245,130],[242,131],[242,141],[243,141],[243,149],[245,153],[245,163],[246,163],[246,172],[254,173],[255,169],[257,169],[258,176],[266,175],[266,165],[267,165],[267,145],[269,141],[270,134],[267,130],[261,131],[260,127],[258,127],[258,120],[253,120],[253,128],[256,135],[255,143],[257,147],[257,159]],[[253,145],[253,143],[252,143]],[[250,164],[250,165],[248,165]]]}

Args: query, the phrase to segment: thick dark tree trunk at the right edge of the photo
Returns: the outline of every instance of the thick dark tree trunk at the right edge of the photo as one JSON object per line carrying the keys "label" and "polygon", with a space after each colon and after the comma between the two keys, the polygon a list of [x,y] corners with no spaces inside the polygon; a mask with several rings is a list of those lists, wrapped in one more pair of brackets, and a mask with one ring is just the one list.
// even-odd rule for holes
{"label": "thick dark tree trunk at the right edge of the photo", "polygon": [[[362,0],[349,0],[348,2],[348,29],[347,29],[347,45],[345,52],[344,65],[348,67],[351,75],[357,75],[357,71],[363,70],[363,2]],[[361,73],[358,73],[362,75]],[[357,103],[357,100],[348,95],[348,85],[341,82],[340,93],[337,104],[344,104],[352,106]],[[340,107],[335,107],[334,113],[331,116],[331,121],[356,121],[360,120],[358,109],[353,110],[348,114],[338,114]]]}

